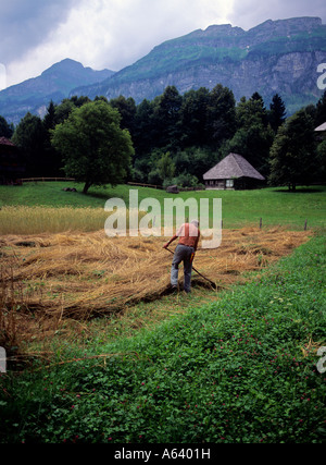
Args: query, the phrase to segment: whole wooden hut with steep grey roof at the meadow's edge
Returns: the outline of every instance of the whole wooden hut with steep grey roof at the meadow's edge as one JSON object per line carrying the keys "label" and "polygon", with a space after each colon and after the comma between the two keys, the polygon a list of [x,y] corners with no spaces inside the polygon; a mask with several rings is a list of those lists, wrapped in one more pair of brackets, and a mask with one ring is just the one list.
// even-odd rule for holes
{"label": "whole wooden hut with steep grey roof at the meadow's edge", "polygon": [[261,186],[265,178],[241,155],[229,154],[203,175],[206,189],[247,189]]}

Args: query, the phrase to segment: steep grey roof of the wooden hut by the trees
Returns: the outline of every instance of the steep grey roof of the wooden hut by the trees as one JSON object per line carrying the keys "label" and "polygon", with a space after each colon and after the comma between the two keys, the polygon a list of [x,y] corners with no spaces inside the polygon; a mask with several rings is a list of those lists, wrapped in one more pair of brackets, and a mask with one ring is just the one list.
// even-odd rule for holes
{"label": "steep grey roof of the wooden hut by the trees", "polygon": [[237,178],[252,178],[264,181],[262,176],[241,155],[228,154],[220,163],[209,170],[204,175],[206,180],[230,180]]}

